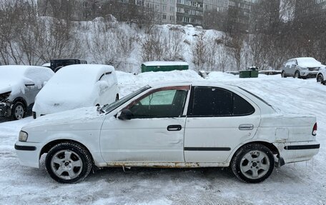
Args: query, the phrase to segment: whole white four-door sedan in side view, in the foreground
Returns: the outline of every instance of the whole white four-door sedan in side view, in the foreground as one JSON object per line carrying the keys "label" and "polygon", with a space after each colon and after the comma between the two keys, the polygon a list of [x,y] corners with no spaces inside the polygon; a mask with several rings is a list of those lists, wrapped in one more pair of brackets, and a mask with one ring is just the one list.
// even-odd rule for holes
{"label": "whole white four-door sedan in side view, in the foreground", "polygon": [[44,116],[24,126],[21,164],[61,183],[104,166],[230,166],[242,181],[318,153],[316,117],[280,114],[237,86],[209,81],[144,86],[113,104]]}

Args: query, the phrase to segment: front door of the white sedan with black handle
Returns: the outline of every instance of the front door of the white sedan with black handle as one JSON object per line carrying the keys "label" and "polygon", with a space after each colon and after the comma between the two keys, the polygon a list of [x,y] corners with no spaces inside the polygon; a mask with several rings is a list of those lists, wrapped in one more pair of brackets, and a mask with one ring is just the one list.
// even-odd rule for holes
{"label": "front door of the white sedan with black handle", "polygon": [[184,162],[184,104],[189,86],[148,91],[127,106],[132,119],[104,121],[100,137],[107,162]]}

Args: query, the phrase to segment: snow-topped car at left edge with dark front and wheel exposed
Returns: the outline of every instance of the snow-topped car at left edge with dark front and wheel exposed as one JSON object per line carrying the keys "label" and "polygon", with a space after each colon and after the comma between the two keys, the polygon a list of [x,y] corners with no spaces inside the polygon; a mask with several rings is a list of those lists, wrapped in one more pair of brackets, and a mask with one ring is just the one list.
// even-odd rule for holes
{"label": "snow-topped car at left edge with dark front and wheel exposed", "polygon": [[0,66],[0,116],[24,118],[54,72],[41,66]]}

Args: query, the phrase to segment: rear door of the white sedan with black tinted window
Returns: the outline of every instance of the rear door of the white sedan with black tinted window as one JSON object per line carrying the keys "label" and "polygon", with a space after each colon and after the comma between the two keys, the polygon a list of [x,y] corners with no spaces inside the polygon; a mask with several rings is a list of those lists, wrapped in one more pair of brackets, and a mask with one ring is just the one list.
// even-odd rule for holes
{"label": "rear door of the white sedan with black tinted window", "polygon": [[184,134],[186,162],[224,162],[255,136],[260,109],[245,96],[220,87],[194,86]]}

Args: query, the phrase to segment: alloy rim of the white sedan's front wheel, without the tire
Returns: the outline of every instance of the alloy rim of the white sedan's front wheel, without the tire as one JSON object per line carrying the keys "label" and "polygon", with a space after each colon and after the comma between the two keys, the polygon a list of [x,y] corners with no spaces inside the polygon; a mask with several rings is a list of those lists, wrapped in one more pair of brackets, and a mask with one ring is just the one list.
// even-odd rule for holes
{"label": "alloy rim of the white sedan's front wheel, without the tire", "polygon": [[51,170],[60,179],[75,179],[82,166],[81,157],[69,149],[57,151],[51,159]]}

